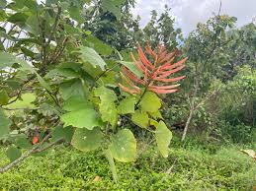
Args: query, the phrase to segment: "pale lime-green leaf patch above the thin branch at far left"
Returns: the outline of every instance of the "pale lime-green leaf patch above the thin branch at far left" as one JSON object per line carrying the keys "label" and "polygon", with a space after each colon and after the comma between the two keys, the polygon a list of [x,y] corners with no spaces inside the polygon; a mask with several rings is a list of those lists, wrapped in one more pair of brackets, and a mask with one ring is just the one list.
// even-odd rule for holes
{"label": "pale lime-green leaf patch above the thin branch at far left", "polygon": [[[14,98],[11,98],[10,101],[12,101]],[[35,108],[35,105],[32,103],[35,100],[36,96],[34,94],[26,93],[21,96],[21,99],[18,99],[9,104],[8,108]]]}

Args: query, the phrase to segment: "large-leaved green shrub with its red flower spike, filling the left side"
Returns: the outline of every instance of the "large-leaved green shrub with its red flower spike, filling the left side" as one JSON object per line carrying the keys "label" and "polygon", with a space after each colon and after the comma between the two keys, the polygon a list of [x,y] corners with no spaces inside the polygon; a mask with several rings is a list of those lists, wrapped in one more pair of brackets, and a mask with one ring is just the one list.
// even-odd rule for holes
{"label": "large-leaved green shrub with its red flower spike, filling the left side", "polygon": [[[4,4],[5,13],[10,10],[10,14],[3,16],[2,23],[11,29],[1,32],[0,136],[11,161],[44,152],[62,141],[83,152],[100,149],[112,166],[113,159],[134,161],[137,148],[132,131],[137,126],[150,131],[160,154],[168,157],[172,133],[159,117],[161,99],[155,93],[176,91],[178,85],[159,85],[183,79],[168,77],[183,69],[187,58],[173,63],[177,49],[167,54],[163,45],[155,50],[147,46],[154,59],[151,64],[139,46],[139,61],[131,53],[133,63],[128,64],[120,60],[123,57],[116,48],[105,43],[108,40],[101,41],[92,34],[95,31],[89,31],[97,17],[91,18],[92,24],[84,24],[83,17],[95,13],[90,8],[119,21],[130,3],[53,0],[38,4],[31,0]],[[83,15],[83,7],[90,13]],[[129,95],[119,89],[121,76],[129,82],[120,73],[122,64],[128,67],[123,70],[130,80],[140,82],[134,75],[143,76],[143,93]],[[133,124],[118,126],[125,117]],[[29,146],[16,141],[21,135]],[[116,180],[115,166],[112,169]]]}

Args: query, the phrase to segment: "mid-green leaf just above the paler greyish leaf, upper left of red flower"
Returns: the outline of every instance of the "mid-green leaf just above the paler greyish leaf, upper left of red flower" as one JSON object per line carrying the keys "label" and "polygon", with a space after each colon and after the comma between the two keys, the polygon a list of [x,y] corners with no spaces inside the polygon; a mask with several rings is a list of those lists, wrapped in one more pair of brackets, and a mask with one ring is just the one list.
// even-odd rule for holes
{"label": "mid-green leaf just above the paler greyish leaf, upper left of red flower", "polygon": [[104,43],[102,40],[95,37],[94,35],[89,35],[88,37],[86,37],[86,45],[92,47],[104,56],[108,56],[112,52],[111,46]]}

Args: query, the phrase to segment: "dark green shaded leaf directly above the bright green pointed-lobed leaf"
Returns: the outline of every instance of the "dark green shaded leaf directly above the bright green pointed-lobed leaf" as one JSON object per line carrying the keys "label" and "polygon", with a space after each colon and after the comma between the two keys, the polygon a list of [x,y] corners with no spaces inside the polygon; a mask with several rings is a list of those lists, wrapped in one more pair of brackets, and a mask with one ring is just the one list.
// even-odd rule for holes
{"label": "dark green shaded leaf directly above the bright green pointed-lobed leaf", "polygon": [[59,85],[59,93],[63,99],[70,96],[84,96],[84,88],[80,79],[72,79]]}

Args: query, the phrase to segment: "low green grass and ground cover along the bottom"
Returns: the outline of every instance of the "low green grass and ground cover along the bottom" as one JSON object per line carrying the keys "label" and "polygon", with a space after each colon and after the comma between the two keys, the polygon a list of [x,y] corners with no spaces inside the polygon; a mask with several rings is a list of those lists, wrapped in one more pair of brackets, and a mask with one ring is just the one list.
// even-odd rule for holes
{"label": "low green grass and ground cover along the bottom", "polygon": [[[117,162],[120,181],[115,184],[108,161],[97,154],[57,148],[44,157],[26,159],[0,175],[2,190],[252,190],[256,162],[238,147],[212,150],[175,146],[168,159],[140,144],[133,163]],[[0,152],[0,165],[8,162]],[[169,173],[168,173],[169,172]],[[96,176],[101,180],[93,182]]]}

